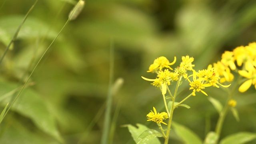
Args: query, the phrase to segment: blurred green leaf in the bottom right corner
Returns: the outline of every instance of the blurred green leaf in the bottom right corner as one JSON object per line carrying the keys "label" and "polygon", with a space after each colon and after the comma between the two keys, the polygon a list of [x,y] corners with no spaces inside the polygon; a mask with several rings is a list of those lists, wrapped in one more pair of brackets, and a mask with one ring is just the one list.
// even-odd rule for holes
{"label": "blurred green leaf in the bottom right corner", "polygon": [[245,144],[256,139],[256,133],[252,132],[238,132],[223,138],[220,144]]}

